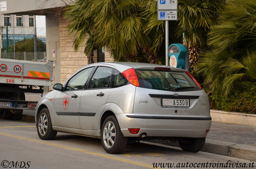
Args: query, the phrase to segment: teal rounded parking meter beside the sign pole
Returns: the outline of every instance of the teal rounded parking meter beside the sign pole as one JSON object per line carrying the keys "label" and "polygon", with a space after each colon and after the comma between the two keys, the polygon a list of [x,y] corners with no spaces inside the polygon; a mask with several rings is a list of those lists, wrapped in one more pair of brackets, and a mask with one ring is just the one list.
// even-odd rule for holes
{"label": "teal rounded parking meter beside the sign pole", "polygon": [[170,66],[184,69],[187,49],[183,44],[171,44],[169,46]]}

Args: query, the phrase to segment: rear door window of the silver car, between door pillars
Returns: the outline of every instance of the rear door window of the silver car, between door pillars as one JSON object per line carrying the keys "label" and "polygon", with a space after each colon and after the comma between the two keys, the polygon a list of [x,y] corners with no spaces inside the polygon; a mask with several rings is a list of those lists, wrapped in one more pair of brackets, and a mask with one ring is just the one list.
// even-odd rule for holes
{"label": "rear door window of the silver car, between door pillars", "polygon": [[112,70],[113,69],[109,67],[98,67],[91,78],[88,89],[108,87]]}

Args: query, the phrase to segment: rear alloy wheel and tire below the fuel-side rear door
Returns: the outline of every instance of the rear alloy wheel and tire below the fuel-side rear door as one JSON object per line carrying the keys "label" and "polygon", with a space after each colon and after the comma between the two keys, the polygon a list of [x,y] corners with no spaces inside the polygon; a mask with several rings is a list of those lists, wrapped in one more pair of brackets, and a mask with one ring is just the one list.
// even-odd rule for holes
{"label": "rear alloy wheel and tire below the fuel-side rear door", "polygon": [[127,140],[121,132],[116,117],[107,117],[101,128],[101,143],[105,151],[109,154],[120,154],[124,151]]}

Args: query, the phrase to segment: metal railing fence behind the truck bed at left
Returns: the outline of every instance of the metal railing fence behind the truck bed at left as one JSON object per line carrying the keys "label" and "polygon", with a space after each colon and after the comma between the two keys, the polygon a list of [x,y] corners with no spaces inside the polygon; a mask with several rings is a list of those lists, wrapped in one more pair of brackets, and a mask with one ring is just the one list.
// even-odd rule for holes
{"label": "metal railing fence behind the truck bed at left", "polygon": [[46,62],[46,52],[1,52],[1,58]]}

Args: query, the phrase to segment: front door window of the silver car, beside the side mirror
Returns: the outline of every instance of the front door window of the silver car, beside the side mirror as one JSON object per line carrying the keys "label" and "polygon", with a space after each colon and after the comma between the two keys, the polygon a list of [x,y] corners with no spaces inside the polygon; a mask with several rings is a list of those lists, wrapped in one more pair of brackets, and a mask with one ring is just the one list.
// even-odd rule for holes
{"label": "front door window of the silver car, beside the side mirror", "polygon": [[89,67],[77,73],[72,79],[69,80],[66,90],[79,90],[83,89],[86,80],[88,79],[94,67]]}

